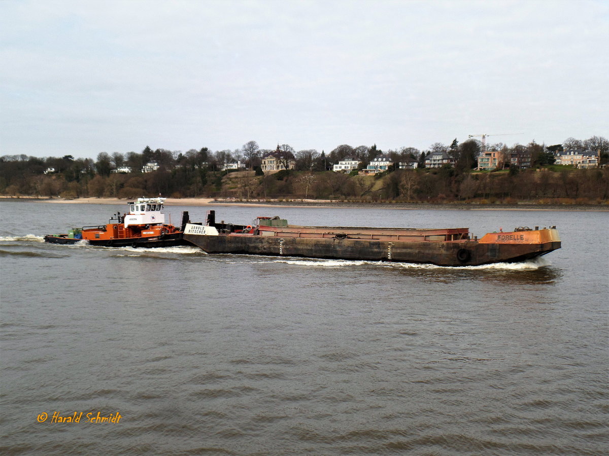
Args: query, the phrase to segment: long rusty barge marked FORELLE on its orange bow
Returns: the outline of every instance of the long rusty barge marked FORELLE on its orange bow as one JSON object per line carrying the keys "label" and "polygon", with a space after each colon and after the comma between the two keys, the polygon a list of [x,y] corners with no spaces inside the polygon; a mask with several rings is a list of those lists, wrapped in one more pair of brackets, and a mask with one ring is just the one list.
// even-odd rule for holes
{"label": "long rusty barge marked FORELLE on its orange bow", "polygon": [[208,254],[428,263],[477,266],[531,260],[560,249],[555,226],[518,227],[487,233],[480,239],[468,228],[414,229],[295,226],[285,219],[256,217],[250,225],[216,223],[208,211],[205,224],[187,223],[184,239]]}

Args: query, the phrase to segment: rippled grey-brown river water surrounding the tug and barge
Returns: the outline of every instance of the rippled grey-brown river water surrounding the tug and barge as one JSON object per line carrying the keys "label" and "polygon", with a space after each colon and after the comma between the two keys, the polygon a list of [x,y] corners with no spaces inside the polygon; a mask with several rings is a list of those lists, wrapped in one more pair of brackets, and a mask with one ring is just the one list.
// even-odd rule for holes
{"label": "rippled grey-brown river water surrounding the tug and barge", "polygon": [[608,454],[609,213],[214,209],[478,236],[556,225],[563,248],[440,268],[58,246],[42,236],[124,208],[2,201],[0,452]]}

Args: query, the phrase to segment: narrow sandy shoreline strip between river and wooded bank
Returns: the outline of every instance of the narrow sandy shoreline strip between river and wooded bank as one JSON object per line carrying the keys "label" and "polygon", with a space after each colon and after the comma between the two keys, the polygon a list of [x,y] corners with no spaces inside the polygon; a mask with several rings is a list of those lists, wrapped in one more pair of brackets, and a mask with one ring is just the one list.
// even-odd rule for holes
{"label": "narrow sandy shoreline strip between river and wooded bank", "polygon": [[[122,206],[128,199],[120,198],[41,198],[37,196],[0,196],[0,201],[42,201],[55,204],[108,204]],[[298,201],[236,201],[232,199],[215,198],[166,198],[169,206],[238,206],[238,207],[334,207],[345,209],[369,208],[375,209],[401,209],[401,210],[579,210],[586,212],[609,212],[609,204],[540,204],[534,202],[519,202],[512,204],[481,204],[465,202],[424,203],[424,202],[346,202],[346,201],[319,201],[315,199],[298,199]]]}

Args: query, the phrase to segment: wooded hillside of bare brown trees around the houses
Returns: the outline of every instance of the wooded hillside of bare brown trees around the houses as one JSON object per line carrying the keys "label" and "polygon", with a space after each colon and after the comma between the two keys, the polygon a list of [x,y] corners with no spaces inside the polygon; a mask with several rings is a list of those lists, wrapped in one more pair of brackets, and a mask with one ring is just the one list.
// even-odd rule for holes
{"label": "wooded hillside of bare brown trees around the houses", "polygon": [[[487,151],[499,151],[509,164],[512,153],[526,153],[532,168],[551,165],[554,152],[567,148],[600,150],[601,159],[609,159],[609,142],[602,137],[588,140],[569,138],[562,144],[545,146],[530,142],[528,145],[507,147],[502,143],[487,145]],[[426,157],[434,152],[446,152],[456,159],[454,167],[425,168]],[[280,171],[264,175],[259,168],[262,157],[278,154],[284,161],[294,160],[295,171]],[[287,144],[275,150],[262,150],[250,141],[237,150],[212,153],[208,148],[169,151],[144,148],[141,153],[126,154],[102,152],[97,159],[63,157],[0,157],[0,193],[4,195],[41,195],[77,197],[112,196],[133,198],[143,195],[177,197],[217,196],[234,198],[346,198],[361,201],[400,199],[403,201],[527,199],[527,198],[592,198],[605,200],[607,196],[606,170],[574,170],[563,167],[560,173],[512,168],[507,173],[471,173],[482,153],[482,144],[470,139],[450,145],[434,143],[428,150],[412,147],[381,151],[376,145],[351,147],[343,144],[326,155],[325,151],[295,151]],[[356,173],[333,173],[333,164],[353,157],[362,162],[360,168],[379,154],[396,162],[416,161],[417,170],[400,170],[394,165],[387,173],[376,176],[357,176]],[[158,170],[143,173],[141,169],[150,161]],[[244,161],[251,171],[227,176],[222,165]],[[113,173],[122,166],[132,173]],[[54,168],[54,174],[45,174]],[[594,183],[594,185],[592,184]]]}

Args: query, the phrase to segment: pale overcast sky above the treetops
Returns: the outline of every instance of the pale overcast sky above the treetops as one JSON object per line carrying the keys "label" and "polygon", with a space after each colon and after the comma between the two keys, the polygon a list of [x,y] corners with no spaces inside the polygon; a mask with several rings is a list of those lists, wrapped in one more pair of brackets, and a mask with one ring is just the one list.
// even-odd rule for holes
{"label": "pale overcast sky above the treetops", "polygon": [[0,40],[0,155],[609,137],[608,1],[5,0]]}

